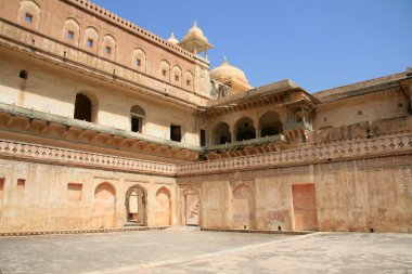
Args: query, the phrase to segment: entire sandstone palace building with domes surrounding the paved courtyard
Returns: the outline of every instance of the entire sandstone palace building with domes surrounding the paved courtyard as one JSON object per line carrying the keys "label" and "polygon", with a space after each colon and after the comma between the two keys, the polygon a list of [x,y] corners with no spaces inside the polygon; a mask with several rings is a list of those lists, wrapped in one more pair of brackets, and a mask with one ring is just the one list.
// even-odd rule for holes
{"label": "entire sandstone palace building with domes surrounding the paved courtyard", "polygon": [[410,69],[254,88],[213,47],[196,23],[165,40],[87,0],[0,0],[0,233],[411,232]]}

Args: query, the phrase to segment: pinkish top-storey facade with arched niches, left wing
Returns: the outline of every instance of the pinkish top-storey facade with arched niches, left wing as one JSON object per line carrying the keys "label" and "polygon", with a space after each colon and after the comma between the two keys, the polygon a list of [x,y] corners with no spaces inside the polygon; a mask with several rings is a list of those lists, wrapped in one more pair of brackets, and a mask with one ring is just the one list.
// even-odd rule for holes
{"label": "pinkish top-storey facade with arched niches, left wing", "polygon": [[209,80],[202,79],[203,84],[196,77],[208,75],[205,58],[89,1],[0,0],[0,17],[68,47],[60,53],[67,57],[73,51],[99,57],[112,65],[113,74],[138,74],[141,83],[155,80],[157,90],[171,90],[177,97],[207,100],[209,94]]}

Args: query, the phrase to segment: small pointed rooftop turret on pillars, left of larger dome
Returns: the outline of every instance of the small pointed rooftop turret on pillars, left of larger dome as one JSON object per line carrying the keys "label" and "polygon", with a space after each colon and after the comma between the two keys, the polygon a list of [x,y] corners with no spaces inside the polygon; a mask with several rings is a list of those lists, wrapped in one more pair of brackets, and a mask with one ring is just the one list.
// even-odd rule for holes
{"label": "small pointed rooftop turret on pillars, left of larger dome", "polygon": [[196,21],[194,22],[193,27],[189,29],[188,34],[178,44],[194,54],[205,52],[206,58],[207,50],[214,48],[214,45],[209,43],[207,38],[203,35],[203,31],[197,26]]}

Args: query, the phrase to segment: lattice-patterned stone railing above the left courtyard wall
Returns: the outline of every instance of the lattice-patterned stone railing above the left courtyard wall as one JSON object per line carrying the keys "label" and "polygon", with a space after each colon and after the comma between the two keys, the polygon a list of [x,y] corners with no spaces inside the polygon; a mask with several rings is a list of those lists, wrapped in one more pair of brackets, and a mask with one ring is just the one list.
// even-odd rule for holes
{"label": "lattice-patterned stone railing above the left courtyard wall", "polygon": [[79,167],[175,175],[176,165],[0,140],[0,157]]}

